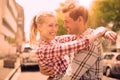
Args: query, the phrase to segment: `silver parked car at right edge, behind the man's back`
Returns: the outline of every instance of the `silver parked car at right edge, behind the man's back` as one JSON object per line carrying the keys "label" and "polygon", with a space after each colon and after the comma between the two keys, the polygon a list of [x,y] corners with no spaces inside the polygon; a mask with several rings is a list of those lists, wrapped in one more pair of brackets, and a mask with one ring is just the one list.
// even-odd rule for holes
{"label": "silver parked car at right edge, behind the man's back", "polygon": [[103,73],[106,76],[120,75],[120,52],[104,53]]}

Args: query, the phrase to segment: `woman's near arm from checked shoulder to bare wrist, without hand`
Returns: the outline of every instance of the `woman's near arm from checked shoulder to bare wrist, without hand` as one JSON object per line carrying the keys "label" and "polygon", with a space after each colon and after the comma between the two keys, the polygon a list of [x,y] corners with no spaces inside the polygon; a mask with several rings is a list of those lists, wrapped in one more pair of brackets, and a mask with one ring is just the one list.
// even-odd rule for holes
{"label": "woman's near arm from checked shoulder to bare wrist, without hand", "polygon": [[51,45],[40,45],[37,49],[37,54],[41,58],[64,56],[66,54],[86,48],[89,43],[93,42],[96,38],[102,36],[105,32],[106,28],[100,27],[94,30],[93,33],[86,36],[84,35],[84,37],[80,37],[79,39],[74,41],[59,44],[54,43]]}

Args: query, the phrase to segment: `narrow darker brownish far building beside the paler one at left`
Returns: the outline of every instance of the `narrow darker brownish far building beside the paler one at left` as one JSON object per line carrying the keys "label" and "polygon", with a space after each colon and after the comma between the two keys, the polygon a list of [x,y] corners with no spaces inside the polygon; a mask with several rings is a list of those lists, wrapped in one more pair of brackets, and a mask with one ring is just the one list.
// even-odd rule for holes
{"label": "narrow darker brownish far building beside the paler one at left", "polygon": [[25,41],[25,32],[24,32],[24,9],[17,3],[18,18],[17,18],[17,50],[21,50],[21,46]]}

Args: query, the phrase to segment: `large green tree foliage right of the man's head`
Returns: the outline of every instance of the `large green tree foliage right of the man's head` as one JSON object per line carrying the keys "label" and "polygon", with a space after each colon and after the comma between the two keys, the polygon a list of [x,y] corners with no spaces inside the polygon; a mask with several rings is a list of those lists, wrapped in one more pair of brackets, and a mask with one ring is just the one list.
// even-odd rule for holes
{"label": "large green tree foliage right of the man's head", "polygon": [[96,0],[89,11],[88,25],[107,26],[113,22],[113,30],[120,28],[120,0]]}

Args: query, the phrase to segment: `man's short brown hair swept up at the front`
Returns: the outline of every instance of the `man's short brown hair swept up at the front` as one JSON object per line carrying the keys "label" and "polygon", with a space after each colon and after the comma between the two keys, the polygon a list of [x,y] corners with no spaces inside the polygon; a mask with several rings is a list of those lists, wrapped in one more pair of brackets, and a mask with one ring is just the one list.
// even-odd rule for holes
{"label": "man's short brown hair swept up at the front", "polygon": [[66,5],[62,9],[62,12],[63,13],[69,12],[69,16],[73,20],[77,20],[79,16],[82,16],[85,22],[87,22],[88,20],[88,10],[83,6],[76,6],[74,3]]}

